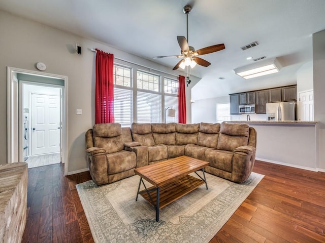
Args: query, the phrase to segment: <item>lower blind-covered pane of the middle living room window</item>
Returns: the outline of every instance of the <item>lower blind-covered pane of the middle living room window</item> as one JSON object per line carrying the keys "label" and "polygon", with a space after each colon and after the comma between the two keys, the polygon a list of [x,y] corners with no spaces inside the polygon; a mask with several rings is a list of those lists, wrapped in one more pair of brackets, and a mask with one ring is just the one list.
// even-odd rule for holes
{"label": "lower blind-covered pane of the middle living room window", "polygon": [[161,95],[138,92],[138,123],[161,123]]}

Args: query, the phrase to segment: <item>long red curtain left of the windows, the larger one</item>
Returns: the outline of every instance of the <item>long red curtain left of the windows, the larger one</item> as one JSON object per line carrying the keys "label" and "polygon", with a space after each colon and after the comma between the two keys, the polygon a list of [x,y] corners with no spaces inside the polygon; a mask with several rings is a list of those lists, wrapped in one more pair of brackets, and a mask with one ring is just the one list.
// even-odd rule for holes
{"label": "long red curtain left of the windows, the larger one", "polygon": [[114,55],[96,52],[95,123],[114,123]]}

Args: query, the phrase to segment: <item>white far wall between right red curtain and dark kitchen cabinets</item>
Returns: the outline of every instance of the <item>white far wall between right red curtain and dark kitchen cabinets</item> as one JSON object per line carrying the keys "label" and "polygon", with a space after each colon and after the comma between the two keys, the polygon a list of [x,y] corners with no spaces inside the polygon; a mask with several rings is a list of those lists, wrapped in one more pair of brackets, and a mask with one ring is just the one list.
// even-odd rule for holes
{"label": "white far wall between right red curtain and dark kitchen cabinets", "polygon": [[229,102],[229,96],[195,100],[192,103],[192,123],[216,123],[217,104]]}

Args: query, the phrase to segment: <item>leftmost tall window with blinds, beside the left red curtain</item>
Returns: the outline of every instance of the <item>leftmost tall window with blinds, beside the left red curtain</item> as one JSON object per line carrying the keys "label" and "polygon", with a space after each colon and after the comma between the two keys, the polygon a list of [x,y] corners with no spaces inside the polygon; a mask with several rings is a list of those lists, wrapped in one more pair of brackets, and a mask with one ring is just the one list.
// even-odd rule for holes
{"label": "leftmost tall window with blinds, beside the left red curtain", "polygon": [[131,68],[114,65],[115,123],[129,126],[133,123],[133,89]]}

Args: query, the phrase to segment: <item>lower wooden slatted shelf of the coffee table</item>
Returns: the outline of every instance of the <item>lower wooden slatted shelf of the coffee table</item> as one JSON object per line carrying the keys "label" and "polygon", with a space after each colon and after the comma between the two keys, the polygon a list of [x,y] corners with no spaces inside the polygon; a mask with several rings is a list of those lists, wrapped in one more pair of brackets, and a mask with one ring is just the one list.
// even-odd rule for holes
{"label": "lower wooden slatted shelf of the coffee table", "polygon": [[[160,201],[159,209],[164,208],[165,206],[173,203],[173,201],[179,199],[180,197],[186,195],[192,190],[198,188],[199,186],[205,184],[205,181],[195,178],[193,176],[187,175],[184,178],[178,179],[168,185],[160,187]],[[153,202],[151,201],[146,190],[142,190],[139,193],[149,201],[154,207],[157,204],[157,193],[155,190],[156,187],[152,186],[148,188],[148,193],[150,194]],[[150,191],[152,190],[152,191]]]}

